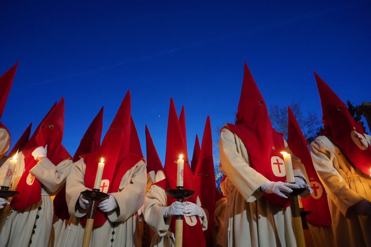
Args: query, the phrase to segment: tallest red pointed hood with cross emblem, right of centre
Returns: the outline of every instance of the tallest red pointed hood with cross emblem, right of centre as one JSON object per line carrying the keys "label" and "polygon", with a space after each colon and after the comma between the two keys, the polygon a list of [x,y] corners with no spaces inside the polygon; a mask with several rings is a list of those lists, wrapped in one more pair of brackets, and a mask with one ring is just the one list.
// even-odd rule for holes
{"label": "tallest red pointed hood with cross emblem, right of centre", "polygon": [[[270,181],[285,182],[285,163],[280,153],[286,151],[283,134],[272,127],[265,101],[246,63],[236,118],[235,124],[227,126],[245,144],[250,166]],[[289,205],[289,199],[274,193],[263,196],[275,206]]]}

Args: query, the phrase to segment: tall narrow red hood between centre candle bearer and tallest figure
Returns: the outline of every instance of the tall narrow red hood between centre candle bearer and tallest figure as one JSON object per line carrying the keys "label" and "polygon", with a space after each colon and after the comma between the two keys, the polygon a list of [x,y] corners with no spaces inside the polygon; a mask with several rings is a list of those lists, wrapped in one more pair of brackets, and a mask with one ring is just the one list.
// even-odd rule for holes
{"label": "tall narrow red hood between centre candle bearer and tallest figure", "polygon": [[210,117],[207,116],[204,134],[202,136],[202,144],[200,158],[197,163],[194,180],[199,191],[201,207],[209,211],[209,219],[207,221],[207,230],[204,231],[207,247],[213,245],[213,223],[215,203],[224,196],[216,189],[214,161],[213,161],[213,140],[211,138]]}

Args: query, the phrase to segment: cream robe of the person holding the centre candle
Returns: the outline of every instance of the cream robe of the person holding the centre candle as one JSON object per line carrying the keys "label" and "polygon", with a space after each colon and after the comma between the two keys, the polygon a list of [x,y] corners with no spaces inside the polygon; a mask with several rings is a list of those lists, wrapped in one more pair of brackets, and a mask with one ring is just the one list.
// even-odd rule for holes
{"label": "cream robe of the person holding the centre candle", "polygon": [[[157,171],[154,183],[165,179],[164,173]],[[174,247],[175,238],[173,227],[171,226],[171,217],[164,217],[164,211],[167,205],[167,194],[160,186],[154,184],[145,197],[144,220],[155,231],[152,238],[151,247]],[[201,202],[197,197],[197,205],[200,207]],[[206,216],[203,208],[202,213]],[[185,217],[185,216],[183,216]],[[200,218],[202,229],[207,229],[207,218]]]}

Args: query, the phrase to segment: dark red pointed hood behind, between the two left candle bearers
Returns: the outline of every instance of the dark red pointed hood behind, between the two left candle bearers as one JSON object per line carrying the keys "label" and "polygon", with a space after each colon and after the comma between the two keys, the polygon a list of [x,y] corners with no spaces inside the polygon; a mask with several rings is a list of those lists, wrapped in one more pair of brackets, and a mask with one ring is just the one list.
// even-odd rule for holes
{"label": "dark red pointed hood behind, between the two left candle bearers", "polygon": [[88,154],[96,151],[101,146],[102,126],[103,126],[103,109],[99,110],[95,118],[89,125],[85,134],[83,135],[80,145],[73,156],[73,161],[78,161],[81,154]]}

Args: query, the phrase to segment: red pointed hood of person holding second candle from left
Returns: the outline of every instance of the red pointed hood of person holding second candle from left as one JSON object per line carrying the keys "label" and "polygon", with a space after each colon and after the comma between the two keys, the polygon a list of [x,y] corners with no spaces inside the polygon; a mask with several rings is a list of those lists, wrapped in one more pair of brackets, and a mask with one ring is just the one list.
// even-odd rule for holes
{"label": "red pointed hood of person holding second candle from left", "polygon": [[[94,187],[96,171],[101,158],[104,159],[104,170],[101,182],[101,191],[114,193],[118,191],[124,174],[137,164],[143,157],[129,152],[130,139],[130,91],[128,90],[121,105],[105,134],[101,146],[93,153],[83,154],[81,157],[86,164],[84,183],[88,188]],[[97,208],[94,226],[100,226],[108,219],[107,214]],[[80,219],[86,224],[86,216]]]}

